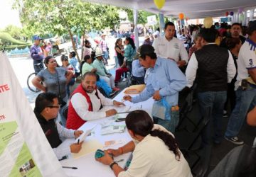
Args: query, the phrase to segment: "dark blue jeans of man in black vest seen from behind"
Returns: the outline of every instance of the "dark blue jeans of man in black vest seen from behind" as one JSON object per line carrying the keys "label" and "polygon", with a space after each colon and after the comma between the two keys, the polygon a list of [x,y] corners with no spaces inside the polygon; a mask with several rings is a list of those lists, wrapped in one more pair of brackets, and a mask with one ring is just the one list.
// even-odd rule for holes
{"label": "dark blue jeans of man in black vest seen from behind", "polygon": [[210,108],[210,121],[203,130],[203,144],[211,144],[212,128],[214,129],[213,141],[221,142],[223,135],[222,118],[223,108],[227,98],[227,91],[206,91],[198,93],[198,103],[201,115],[205,115],[206,110]]}

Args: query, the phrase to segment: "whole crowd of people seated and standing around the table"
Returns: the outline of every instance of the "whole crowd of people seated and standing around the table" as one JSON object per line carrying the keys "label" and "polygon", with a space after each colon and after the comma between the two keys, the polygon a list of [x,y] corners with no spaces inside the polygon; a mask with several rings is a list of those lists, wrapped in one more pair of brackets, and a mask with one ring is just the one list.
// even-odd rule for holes
{"label": "whole crowd of people seated and standing around the table", "polygon": [[[143,176],[192,176],[173,135],[179,122],[177,108],[182,91],[191,91],[196,84],[195,100],[201,115],[210,108],[202,146],[221,144],[223,137],[233,144],[244,144],[238,135],[246,116],[250,125],[256,125],[256,21],[248,24],[245,36],[242,36],[243,29],[240,23],[230,26],[215,23],[211,28],[191,25],[177,34],[174,23],[167,22],[164,36],[146,35],[144,44],[138,48],[132,38],[127,37],[124,42],[118,38],[114,45],[114,57],[119,66],[115,76],[106,69],[109,48],[104,33],[95,50],[90,41],[85,40],[81,64],[75,52],[70,52],[69,59],[61,56],[62,67],[54,57],[46,57],[46,69],[33,79],[34,86],[44,92],[36,99],[34,112],[45,133],[48,127],[54,130],[51,135],[46,133],[50,145],[58,149],[60,136],[77,137],[82,133],[78,128],[85,122],[117,114],[115,109],[100,110],[105,105],[124,105],[112,101],[109,96],[119,91],[117,84],[122,76],[125,81],[127,74],[131,74],[137,84],[146,84],[146,88],[137,96],[127,95],[123,99],[138,103],[153,98],[153,119],[143,110],[129,113],[125,122],[134,141],[119,149],[108,149],[97,161],[109,165],[116,176],[136,176],[138,173]],[[42,64],[43,56],[37,46],[38,39],[31,47],[31,57],[34,64]],[[69,86],[75,84],[80,74],[81,84],[70,93]],[[68,116],[64,118],[63,108],[66,107]],[[229,107],[230,119],[222,135],[222,118],[227,116]],[[53,119],[58,115],[62,125],[56,122],[54,127]],[[79,152],[80,148],[80,144],[71,144],[70,151]],[[129,169],[124,171],[109,154],[119,156],[127,152],[133,152],[133,159]],[[56,152],[58,159],[62,158],[60,154]],[[218,172],[224,171],[220,168],[217,166]]]}

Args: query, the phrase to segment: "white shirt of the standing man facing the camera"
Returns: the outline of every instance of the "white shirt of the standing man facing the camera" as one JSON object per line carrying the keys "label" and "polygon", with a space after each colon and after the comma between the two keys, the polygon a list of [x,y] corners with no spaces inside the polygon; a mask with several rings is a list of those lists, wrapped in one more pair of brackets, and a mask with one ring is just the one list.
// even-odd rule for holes
{"label": "white shirt of the standing man facing the camera", "polygon": [[183,42],[177,38],[166,40],[165,36],[156,38],[153,42],[154,50],[158,57],[171,58],[178,62],[185,60],[188,63],[188,52],[186,51]]}

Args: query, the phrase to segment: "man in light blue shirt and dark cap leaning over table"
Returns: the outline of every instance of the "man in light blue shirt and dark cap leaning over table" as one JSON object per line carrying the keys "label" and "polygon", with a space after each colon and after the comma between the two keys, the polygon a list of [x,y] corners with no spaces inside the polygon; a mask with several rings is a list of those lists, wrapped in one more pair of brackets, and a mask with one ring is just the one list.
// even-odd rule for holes
{"label": "man in light blue shirt and dark cap leaning over table", "polygon": [[[139,62],[144,68],[149,69],[146,88],[139,96],[133,98],[124,96],[124,100],[138,103],[146,101],[153,96],[154,105],[161,104],[163,101],[168,103],[169,108],[178,105],[178,91],[181,91],[186,86],[186,77],[178,69],[176,62],[171,59],[156,57],[154,47],[151,45],[142,45]],[[178,124],[178,120],[174,120],[174,118],[171,118],[171,120],[154,118],[154,122],[163,125],[168,130],[170,130],[169,127],[176,127]],[[173,132],[174,128],[170,131]]]}

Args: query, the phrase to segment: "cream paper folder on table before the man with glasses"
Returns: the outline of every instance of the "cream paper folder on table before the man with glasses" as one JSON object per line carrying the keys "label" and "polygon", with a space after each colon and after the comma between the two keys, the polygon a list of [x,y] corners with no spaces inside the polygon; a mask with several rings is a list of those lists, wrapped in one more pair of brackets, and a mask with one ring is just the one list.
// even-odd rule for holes
{"label": "cream paper folder on table before the man with glasses", "polygon": [[95,153],[97,149],[102,149],[103,144],[101,144],[97,139],[85,139],[82,143],[82,149],[78,153],[71,153],[74,159],[78,159],[81,156],[85,156],[90,153]]}

